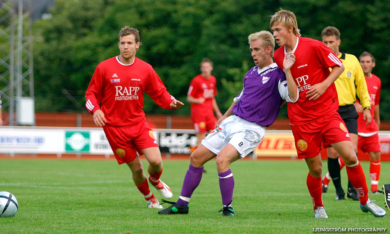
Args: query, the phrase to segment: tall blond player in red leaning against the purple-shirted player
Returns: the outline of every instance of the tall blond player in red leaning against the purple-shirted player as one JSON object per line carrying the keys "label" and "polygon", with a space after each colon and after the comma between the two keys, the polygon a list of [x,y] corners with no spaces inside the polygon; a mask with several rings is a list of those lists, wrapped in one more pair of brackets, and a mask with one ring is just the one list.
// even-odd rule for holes
{"label": "tall blond player in red leaning against the purple-shirted player", "polygon": [[[312,198],[314,217],[328,218],[322,201],[321,145],[332,146],[347,165],[348,178],[356,188],[363,212],[383,217],[386,211],[368,197],[368,188],[344,122],[337,113],[338,98],[333,82],[344,70],[336,55],[321,41],[303,38],[296,16],[280,10],[271,17],[269,28],[277,44],[274,59],[283,69],[285,54],[296,57],[291,74],[300,97],[289,103],[287,111],[299,159],[305,159],[309,173],[307,187]],[[332,68],[332,71],[329,71]]]}

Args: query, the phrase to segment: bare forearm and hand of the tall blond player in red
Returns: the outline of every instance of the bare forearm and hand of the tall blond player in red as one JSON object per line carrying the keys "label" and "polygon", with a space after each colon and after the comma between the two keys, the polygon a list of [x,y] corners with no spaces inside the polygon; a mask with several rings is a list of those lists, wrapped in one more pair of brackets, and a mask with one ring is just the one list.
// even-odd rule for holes
{"label": "bare forearm and hand of the tall blond player in red", "polygon": [[309,88],[309,90],[306,92],[306,97],[309,98],[309,100],[316,100],[319,98],[323,93],[325,93],[326,89],[339,78],[341,73],[344,71],[344,65],[341,64],[341,66],[334,66],[332,68],[332,71],[330,72],[329,76],[323,81],[318,84],[314,84]]}

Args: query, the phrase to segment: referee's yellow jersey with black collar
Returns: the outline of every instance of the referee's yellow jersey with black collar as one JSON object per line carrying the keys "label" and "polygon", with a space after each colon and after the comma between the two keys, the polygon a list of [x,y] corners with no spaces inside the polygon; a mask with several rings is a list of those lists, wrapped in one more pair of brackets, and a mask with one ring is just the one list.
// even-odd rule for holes
{"label": "referee's yellow jersey with black collar", "polygon": [[337,96],[339,96],[339,106],[353,104],[356,102],[357,95],[363,108],[371,107],[367,83],[359,60],[355,55],[346,54],[341,50],[337,57],[339,57],[344,65],[344,71],[335,80]]}

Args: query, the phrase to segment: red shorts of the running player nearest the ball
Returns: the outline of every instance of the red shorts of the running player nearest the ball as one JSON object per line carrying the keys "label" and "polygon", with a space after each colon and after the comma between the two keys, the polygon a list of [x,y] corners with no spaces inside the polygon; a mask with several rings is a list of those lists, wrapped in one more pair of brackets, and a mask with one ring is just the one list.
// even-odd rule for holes
{"label": "red shorts of the running player nearest the ball", "polygon": [[150,147],[158,147],[152,129],[147,121],[131,127],[104,125],[103,130],[119,164],[129,163],[137,157],[137,152]]}

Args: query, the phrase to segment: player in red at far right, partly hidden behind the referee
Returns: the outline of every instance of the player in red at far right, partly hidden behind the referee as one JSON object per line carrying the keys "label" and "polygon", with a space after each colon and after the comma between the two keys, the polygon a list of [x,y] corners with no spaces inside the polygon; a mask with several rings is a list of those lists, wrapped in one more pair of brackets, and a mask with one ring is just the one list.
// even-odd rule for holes
{"label": "player in red at far right, partly hidden behind the referee", "polygon": [[[360,65],[363,68],[367,88],[369,91],[371,102],[372,121],[366,125],[363,121],[362,113],[358,118],[358,148],[370,155],[370,177],[371,177],[371,192],[382,193],[378,189],[379,174],[381,171],[381,146],[379,145],[379,126],[381,120],[379,118],[379,101],[381,99],[381,80],[372,74],[372,68],[375,67],[375,58],[369,52],[363,52],[359,56]],[[359,110],[362,111],[362,105],[356,102]]]}

